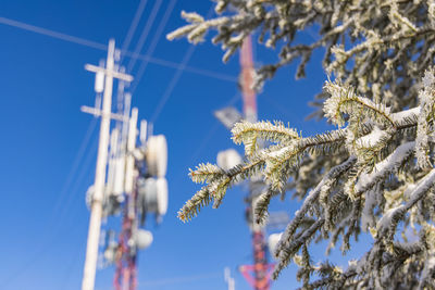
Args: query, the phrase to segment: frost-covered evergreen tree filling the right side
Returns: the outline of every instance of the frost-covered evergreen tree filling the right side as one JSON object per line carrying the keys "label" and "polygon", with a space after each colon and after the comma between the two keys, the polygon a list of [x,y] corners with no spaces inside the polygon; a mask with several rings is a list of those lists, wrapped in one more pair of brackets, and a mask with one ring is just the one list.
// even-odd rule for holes
{"label": "frost-covered evergreen tree filling the right side", "polygon": [[[215,11],[211,20],[183,13],[189,24],[167,38],[197,43],[215,29],[212,41],[226,61],[248,35],[258,36],[279,60],[257,71],[257,88],[295,60],[303,77],[312,53],[323,51],[330,78],[314,114],[337,129],[302,137],[279,122],[236,124],[244,163],[190,171],[206,185],[178,217],[188,220],[210,202],[217,207],[231,186],[261,174],[268,189],[257,199],[258,223],[287,182],[303,199],[274,253],[274,278],[294,261],[306,289],[435,289],[435,1],[219,0]],[[318,40],[297,41],[308,29]],[[259,148],[259,140],[271,146]],[[341,240],[346,253],[361,230],[372,247],[346,269],[311,261],[313,242]]]}

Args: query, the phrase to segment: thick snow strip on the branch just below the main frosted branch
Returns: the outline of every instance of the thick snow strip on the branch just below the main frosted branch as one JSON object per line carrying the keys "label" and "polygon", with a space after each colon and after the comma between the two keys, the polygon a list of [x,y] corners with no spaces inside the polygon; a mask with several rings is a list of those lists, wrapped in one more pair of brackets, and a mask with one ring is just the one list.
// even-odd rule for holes
{"label": "thick snow strip on the branch just below the main frosted branch", "polygon": [[403,160],[412,152],[414,146],[415,142],[408,142],[399,146],[391,154],[377,163],[370,174],[362,173],[358,178],[358,182],[355,185],[356,191],[364,191],[368,187],[370,187],[371,184],[375,182],[375,180],[397,168],[397,166],[399,166],[401,162],[403,162]]}

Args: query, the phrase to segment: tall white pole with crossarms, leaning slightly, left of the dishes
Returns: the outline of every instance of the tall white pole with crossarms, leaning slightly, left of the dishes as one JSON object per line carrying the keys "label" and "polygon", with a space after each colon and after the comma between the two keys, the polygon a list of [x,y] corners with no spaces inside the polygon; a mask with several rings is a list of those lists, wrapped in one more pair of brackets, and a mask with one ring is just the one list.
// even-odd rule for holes
{"label": "tall white pole with crossarms, leaning slightly, left of the dishes", "polygon": [[[111,39],[108,48],[105,71],[113,72],[115,41]],[[112,106],[113,75],[105,75],[104,96],[101,112],[100,140],[98,144],[97,167],[95,176],[95,193],[90,207],[88,241],[86,248],[85,269],[82,290],[94,290],[98,257],[98,239],[101,227],[102,199],[104,193],[105,165],[108,160],[109,130]]]}

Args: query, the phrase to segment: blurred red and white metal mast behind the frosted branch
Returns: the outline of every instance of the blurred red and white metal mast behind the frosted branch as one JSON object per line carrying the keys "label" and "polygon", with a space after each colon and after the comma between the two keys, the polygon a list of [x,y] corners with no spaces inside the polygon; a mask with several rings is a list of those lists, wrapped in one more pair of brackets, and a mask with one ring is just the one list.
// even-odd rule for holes
{"label": "blurred red and white metal mast behind the frosted branch", "polygon": [[[247,37],[240,50],[240,81],[244,97],[244,115],[248,122],[257,122],[257,97],[252,88],[253,85],[253,61],[252,61],[252,42],[251,37]],[[253,265],[240,266],[240,272],[247,281],[256,290],[269,290],[271,285],[270,272],[271,264],[268,264],[265,252],[264,228],[253,220],[253,202],[257,198],[259,181],[256,177],[249,184],[248,207],[246,209],[246,217],[249,228],[252,232],[253,248]]]}

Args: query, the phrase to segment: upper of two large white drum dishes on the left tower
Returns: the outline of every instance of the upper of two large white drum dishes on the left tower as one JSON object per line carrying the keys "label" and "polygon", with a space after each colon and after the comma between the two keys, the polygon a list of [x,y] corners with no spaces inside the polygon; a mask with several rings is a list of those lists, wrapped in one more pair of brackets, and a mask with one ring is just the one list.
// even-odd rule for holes
{"label": "upper of two large white drum dishes on the left tower", "polygon": [[167,144],[163,135],[151,136],[147,141],[146,160],[148,173],[163,177],[167,166]]}

